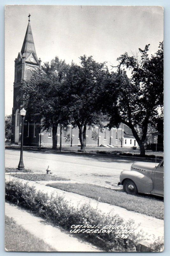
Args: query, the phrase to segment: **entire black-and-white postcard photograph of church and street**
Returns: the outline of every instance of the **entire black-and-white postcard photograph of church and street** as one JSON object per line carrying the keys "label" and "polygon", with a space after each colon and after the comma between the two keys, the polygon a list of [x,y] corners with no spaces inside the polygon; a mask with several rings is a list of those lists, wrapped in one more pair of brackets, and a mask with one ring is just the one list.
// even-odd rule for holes
{"label": "entire black-and-white postcard photograph of church and street", "polygon": [[5,250],[164,250],[164,8],[5,6]]}

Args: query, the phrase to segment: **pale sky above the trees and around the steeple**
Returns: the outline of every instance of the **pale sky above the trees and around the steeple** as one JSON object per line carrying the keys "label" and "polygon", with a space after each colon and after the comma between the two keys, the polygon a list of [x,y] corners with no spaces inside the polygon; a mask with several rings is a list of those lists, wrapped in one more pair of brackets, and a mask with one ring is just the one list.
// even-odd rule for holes
{"label": "pale sky above the trees and around the steeple", "polygon": [[160,6],[57,6],[7,5],[5,8],[5,114],[12,113],[14,60],[21,51],[30,22],[37,57],[42,64],[58,56],[79,64],[92,55],[97,62],[117,65],[124,52],[138,52],[150,44],[149,53],[163,41]]}

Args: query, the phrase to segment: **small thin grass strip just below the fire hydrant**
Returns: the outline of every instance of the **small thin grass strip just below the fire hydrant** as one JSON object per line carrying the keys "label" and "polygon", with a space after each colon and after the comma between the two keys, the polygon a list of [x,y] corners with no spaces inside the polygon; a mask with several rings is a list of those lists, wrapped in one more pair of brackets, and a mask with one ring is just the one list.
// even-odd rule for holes
{"label": "small thin grass strip just below the fire hydrant", "polygon": [[15,173],[15,174],[11,174],[11,176],[13,176],[15,178],[19,178],[19,179],[32,180],[32,181],[69,180],[69,179],[58,177],[57,175],[39,174],[39,173]]}

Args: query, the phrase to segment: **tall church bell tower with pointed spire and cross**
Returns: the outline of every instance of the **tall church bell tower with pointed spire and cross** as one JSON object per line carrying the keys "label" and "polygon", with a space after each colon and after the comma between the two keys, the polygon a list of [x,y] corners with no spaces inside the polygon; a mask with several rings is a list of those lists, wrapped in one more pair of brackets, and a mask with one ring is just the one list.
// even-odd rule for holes
{"label": "tall church bell tower with pointed spire and cross", "polygon": [[15,77],[12,108],[12,138],[11,143],[18,144],[21,133],[20,109],[23,105],[23,94],[21,92],[24,81],[32,76],[32,72],[41,67],[41,59],[37,58],[34,40],[30,25],[30,14],[28,15],[28,26],[25,33],[21,52],[15,59]]}

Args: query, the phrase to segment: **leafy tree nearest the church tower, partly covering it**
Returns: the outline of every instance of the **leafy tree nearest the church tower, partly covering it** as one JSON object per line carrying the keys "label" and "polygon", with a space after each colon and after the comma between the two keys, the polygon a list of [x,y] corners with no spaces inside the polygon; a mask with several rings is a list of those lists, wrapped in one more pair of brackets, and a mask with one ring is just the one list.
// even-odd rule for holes
{"label": "leafy tree nearest the church tower, partly covering it", "polygon": [[23,86],[27,115],[32,118],[39,113],[37,118],[42,119],[41,128],[48,131],[52,127],[53,149],[57,148],[58,124],[61,129],[67,124],[67,117],[63,115],[64,108],[60,105],[60,87],[68,67],[65,60],[55,57],[50,64],[46,62]]}

